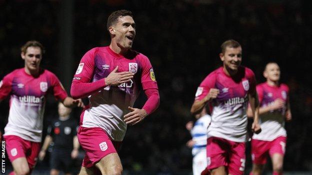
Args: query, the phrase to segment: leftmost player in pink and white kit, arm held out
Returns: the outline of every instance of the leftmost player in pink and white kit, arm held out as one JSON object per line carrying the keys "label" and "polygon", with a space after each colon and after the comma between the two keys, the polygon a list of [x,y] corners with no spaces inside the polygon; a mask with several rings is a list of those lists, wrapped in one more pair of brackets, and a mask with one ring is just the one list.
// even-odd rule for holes
{"label": "leftmost player in pink and white kit, arm held out", "polygon": [[39,67],[43,52],[38,41],[26,42],[21,47],[24,67],[7,74],[0,82],[0,101],[10,95],[8,123],[3,135],[14,170],[10,175],[28,175],[35,166],[47,94],[53,94],[67,107],[83,106],[80,99],[67,96],[53,73]]}

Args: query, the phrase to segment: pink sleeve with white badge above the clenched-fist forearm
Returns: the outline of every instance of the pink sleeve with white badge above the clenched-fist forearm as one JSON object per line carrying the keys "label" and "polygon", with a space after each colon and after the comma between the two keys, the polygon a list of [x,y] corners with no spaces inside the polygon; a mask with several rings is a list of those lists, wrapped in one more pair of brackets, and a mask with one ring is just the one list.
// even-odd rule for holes
{"label": "pink sleeve with white badge above the clenched-fist forearm", "polygon": [[195,100],[202,100],[215,85],[215,72],[210,73],[206,78],[200,83],[197,91],[195,93]]}

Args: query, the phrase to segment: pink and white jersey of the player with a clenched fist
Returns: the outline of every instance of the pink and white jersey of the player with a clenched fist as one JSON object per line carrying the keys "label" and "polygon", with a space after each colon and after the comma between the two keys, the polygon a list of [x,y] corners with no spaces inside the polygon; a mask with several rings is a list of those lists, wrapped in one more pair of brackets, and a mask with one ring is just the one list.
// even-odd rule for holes
{"label": "pink and white jersey of the player with a clenched fist", "polygon": [[248,93],[255,92],[253,72],[249,68],[240,66],[237,74],[230,77],[224,73],[223,67],[220,67],[201,82],[195,100],[203,99],[211,88],[218,89],[219,94],[210,103],[212,113],[207,137],[246,142]]}

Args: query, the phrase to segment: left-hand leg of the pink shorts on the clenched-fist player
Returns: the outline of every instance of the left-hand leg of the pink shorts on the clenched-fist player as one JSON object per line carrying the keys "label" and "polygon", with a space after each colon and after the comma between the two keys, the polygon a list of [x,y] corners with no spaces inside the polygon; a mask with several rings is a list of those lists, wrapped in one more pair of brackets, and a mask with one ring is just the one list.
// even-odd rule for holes
{"label": "left-hand leg of the pink shorts on the clenched-fist player", "polygon": [[207,139],[207,169],[212,170],[227,166],[225,145],[226,143],[224,143],[224,140],[221,138],[210,137]]}

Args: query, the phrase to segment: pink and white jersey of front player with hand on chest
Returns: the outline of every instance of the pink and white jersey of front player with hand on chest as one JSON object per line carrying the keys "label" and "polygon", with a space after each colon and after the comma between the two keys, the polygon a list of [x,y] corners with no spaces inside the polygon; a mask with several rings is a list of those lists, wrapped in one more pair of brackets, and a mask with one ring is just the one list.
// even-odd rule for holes
{"label": "pink and white jersey of front player with hand on chest", "polygon": [[148,58],[133,50],[122,56],[108,46],[93,48],[80,60],[72,84],[102,81],[116,66],[117,72],[135,73],[133,78],[130,82],[106,86],[89,95],[90,107],[81,114],[80,125],[85,128],[100,127],[113,141],[122,141],[126,131],[123,116],[129,112],[127,107],[133,106],[141,88],[158,89]]}

